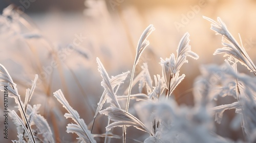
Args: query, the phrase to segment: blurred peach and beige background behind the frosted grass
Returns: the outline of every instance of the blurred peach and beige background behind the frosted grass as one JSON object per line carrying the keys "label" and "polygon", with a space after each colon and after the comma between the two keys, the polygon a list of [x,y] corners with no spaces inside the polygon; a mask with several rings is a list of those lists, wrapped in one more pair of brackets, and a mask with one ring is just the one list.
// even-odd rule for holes
{"label": "blurred peach and beige background behind the frosted grass", "polygon": [[[132,70],[137,42],[150,24],[156,30],[148,38],[150,45],[141,56],[136,74],[142,63],[147,62],[152,78],[161,75],[160,57],[165,59],[176,54],[185,32],[190,34],[191,50],[200,57],[198,60],[188,58],[188,63],[182,67],[181,73],[186,77],[174,92],[179,104],[193,106],[193,83],[200,75],[200,65],[224,62],[223,55],[212,55],[222,47],[222,37],[210,30],[210,22],[203,19],[203,15],[214,20],[221,17],[238,41],[240,33],[246,51],[252,61],[256,61],[256,2],[252,0],[3,0],[0,11],[3,11],[0,63],[8,69],[23,99],[31,80],[35,74],[39,75],[31,104],[42,105],[40,113],[52,125],[57,142],[69,142],[76,135],[65,132],[71,121],[63,117],[66,111],[53,98],[53,92],[61,89],[70,105],[90,126],[103,92],[96,57],[110,76]],[[239,71],[245,73],[247,69],[241,66]],[[128,81],[121,90],[127,88]],[[133,88],[133,92],[138,89]],[[224,99],[223,104],[232,100]],[[242,138],[242,133],[229,128],[233,112],[227,112],[225,126],[217,126],[217,133],[236,140]],[[105,126],[97,124],[105,119],[104,116],[97,118],[94,133],[104,133]],[[15,139],[14,126],[10,132]],[[130,134],[141,140],[145,138],[142,133],[131,131]]]}

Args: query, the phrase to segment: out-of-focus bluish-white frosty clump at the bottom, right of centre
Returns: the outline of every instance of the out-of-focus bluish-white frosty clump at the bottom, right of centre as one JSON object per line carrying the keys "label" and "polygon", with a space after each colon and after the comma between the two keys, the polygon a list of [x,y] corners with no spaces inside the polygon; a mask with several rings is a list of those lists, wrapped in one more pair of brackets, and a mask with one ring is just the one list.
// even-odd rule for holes
{"label": "out-of-focus bluish-white frosty clump at the bottom, right of centre", "polygon": [[[212,121],[209,109],[203,106],[179,107],[175,101],[160,100],[157,103],[144,102],[136,105],[143,112],[145,120],[158,118],[160,125],[155,134],[144,142],[228,142],[212,135]],[[152,128],[154,130],[154,128]]]}

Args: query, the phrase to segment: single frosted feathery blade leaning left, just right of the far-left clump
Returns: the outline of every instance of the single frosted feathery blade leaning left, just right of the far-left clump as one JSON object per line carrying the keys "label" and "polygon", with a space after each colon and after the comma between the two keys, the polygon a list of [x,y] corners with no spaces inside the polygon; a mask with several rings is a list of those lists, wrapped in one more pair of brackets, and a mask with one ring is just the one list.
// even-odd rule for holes
{"label": "single frosted feathery blade leaning left, just right of the far-left clump", "polygon": [[96,142],[91,132],[88,130],[86,123],[84,123],[84,121],[80,118],[78,112],[69,105],[61,90],[57,90],[53,94],[59,103],[61,103],[62,106],[69,112],[64,116],[66,118],[72,118],[72,120],[77,124],[69,124],[67,126],[67,132],[76,133],[84,142]]}

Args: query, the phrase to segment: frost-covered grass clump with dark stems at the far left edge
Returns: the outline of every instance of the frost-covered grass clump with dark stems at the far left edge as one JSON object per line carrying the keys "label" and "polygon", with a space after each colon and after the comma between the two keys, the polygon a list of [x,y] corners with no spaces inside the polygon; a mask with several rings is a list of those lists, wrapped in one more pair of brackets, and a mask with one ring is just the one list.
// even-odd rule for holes
{"label": "frost-covered grass clump with dark stems at the far left edge", "polygon": [[[16,88],[16,84],[13,82],[7,69],[0,64],[0,90],[5,91],[3,87],[7,86],[9,97],[15,99],[15,103],[22,117],[12,110],[10,111],[11,117],[17,127],[18,140],[12,140],[13,142],[54,142],[51,128],[46,119],[37,113],[40,105],[29,105],[32,98],[36,80],[38,76],[35,76],[31,89],[26,90],[25,103],[22,102]],[[36,128],[32,128],[35,125]],[[42,137],[41,137],[42,136]]]}

